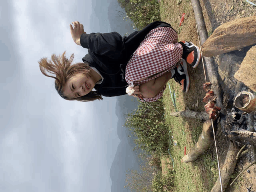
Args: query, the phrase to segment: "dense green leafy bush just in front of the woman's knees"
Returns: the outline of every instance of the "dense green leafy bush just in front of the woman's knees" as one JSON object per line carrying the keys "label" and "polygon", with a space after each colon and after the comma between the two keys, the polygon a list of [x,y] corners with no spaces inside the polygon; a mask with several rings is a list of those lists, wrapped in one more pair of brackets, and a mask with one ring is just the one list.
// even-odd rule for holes
{"label": "dense green leafy bush just in front of the woman's knees", "polygon": [[161,114],[145,102],[140,102],[137,110],[126,114],[124,126],[132,132],[137,149],[144,150],[147,154],[167,154],[169,136],[168,127],[162,119],[163,103],[158,100],[151,102],[150,105]]}

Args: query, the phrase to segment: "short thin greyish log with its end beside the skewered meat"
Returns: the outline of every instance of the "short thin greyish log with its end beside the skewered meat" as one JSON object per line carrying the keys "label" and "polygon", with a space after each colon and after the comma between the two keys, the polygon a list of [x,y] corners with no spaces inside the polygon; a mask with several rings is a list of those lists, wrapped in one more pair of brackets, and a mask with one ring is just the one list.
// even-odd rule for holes
{"label": "short thin greyish log with its end beside the skewered meat", "polygon": [[209,119],[209,114],[207,114],[206,112],[204,111],[197,112],[197,111],[190,110],[189,108],[187,108],[186,111],[170,112],[170,116],[176,116],[176,117],[182,116],[182,117],[188,117],[188,118],[196,118],[200,120]]}

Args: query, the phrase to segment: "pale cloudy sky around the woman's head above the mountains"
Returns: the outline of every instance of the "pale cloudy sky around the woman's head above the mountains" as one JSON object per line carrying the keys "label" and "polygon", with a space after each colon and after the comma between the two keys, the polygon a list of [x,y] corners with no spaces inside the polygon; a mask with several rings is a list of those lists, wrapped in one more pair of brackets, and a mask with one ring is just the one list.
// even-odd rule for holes
{"label": "pale cloudy sky around the woman's head above the mountains", "polygon": [[[66,101],[38,64],[65,50],[81,62],[87,50],[73,42],[69,24],[78,20],[85,32],[95,32],[91,15],[91,0],[1,2],[1,192],[110,191],[120,143],[116,98]],[[110,32],[107,22],[99,32]]]}

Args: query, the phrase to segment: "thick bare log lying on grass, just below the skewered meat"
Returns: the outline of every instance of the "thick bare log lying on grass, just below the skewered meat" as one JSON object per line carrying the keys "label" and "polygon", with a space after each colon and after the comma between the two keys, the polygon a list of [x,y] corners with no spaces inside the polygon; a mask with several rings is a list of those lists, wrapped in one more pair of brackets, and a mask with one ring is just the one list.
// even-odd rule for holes
{"label": "thick bare log lying on grass, just below the skewered meat", "polygon": [[208,119],[204,122],[202,134],[198,138],[198,142],[195,144],[194,148],[182,158],[182,162],[188,163],[196,160],[200,154],[210,147],[213,141],[212,121]]}

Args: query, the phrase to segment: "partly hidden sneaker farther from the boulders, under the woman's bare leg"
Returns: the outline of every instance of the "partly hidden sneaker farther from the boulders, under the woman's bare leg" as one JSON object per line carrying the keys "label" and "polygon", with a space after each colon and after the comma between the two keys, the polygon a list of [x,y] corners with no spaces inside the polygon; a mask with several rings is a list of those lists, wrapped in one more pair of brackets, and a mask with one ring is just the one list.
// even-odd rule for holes
{"label": "partly hidden sneaker farther from the boulders, under the woman's bare leg", "polygon": [[172,78],[178,82],[184,92],[188,92],[189,89],[189,75],[186,61],[181,59],[181,63],[176,66],[172,71]]}

